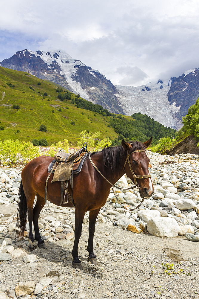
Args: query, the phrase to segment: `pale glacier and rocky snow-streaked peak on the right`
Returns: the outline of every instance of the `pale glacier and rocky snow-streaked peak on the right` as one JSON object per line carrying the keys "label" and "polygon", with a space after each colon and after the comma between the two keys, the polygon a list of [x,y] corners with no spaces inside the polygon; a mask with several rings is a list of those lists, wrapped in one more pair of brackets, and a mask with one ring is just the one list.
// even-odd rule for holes
{"label": "pale glacier and rocky snow-streaked peak on the right", "polygon": [[199,97],[199,69],[186,71],[178,78],[138,87],[116,85],[116,88],[125,114],[141,112],[164,126],[179,129],[182,117]]}

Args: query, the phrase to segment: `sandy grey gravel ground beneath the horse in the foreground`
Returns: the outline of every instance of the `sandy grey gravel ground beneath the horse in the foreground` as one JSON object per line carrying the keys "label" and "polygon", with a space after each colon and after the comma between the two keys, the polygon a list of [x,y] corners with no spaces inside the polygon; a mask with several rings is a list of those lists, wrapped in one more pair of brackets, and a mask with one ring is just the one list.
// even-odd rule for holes
{"label": "sandy grey gravel ground beneath the horse in the foreground", "polygon": [[[108,208],[109,203],[106,205]],[[16,205],[0,205],[0,213],[4,214],[1,225],[10,221],[16,209]],[[60,214],[47,207],[41,211],[40,219],[50,215],[60,220]],[[10,233],[10,238],[13,237],[14,233]],[[72,268],[72,245],[46,240],[45,248],[28,252],[37,255],[34,263],[24,263],[23,257],[1,262],[0,289],[9,294],[21,281],[37,283],[43,277],[51,277],[51,285],[60,287],[58,292],[50,290],[46,294],[44,290],[45,294],[32,298],[199,298],[198,242],[190,242],[185,236],[159,238],[148,233],[135,234],[100,223],[95,230],[94,248],[99,264],[93,266],[87,260],[87,239],[88,222],[83,224],[78,250],[82,269]],[[15,242],[17,245],[18,239]],[[173,263],[175,273],[164,273],[161,263]]]}

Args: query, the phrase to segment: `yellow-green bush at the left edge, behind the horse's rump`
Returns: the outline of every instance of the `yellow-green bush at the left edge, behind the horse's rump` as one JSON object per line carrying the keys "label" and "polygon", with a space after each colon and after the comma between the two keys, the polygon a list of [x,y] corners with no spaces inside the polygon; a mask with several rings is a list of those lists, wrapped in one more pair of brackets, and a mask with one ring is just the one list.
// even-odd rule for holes
{"label": "yellow-green bush at the left edge, behind the horse's rump", "polygon": [[34,147],[30,141],[5,139],[0,142],[1,164],[11,165],[17,162],[26,164],[30,160],[40,156],[39,148]]}

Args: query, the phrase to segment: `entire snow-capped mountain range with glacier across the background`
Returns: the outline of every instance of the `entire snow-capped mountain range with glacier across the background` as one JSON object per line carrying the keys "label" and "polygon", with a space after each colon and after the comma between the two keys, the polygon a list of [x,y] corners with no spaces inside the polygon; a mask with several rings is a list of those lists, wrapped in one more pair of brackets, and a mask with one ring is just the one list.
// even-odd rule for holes
{"label": "entire snow-capped mountain range with glacier across the background", "polygon": [[141,112],[174,129],[182,126],[182,117],[199,97],[199,68],[178,78],[133,87],[114,86],[99,71],[61,49],[18,51],[0,65],[53,81],[110,112],[126,115]]}

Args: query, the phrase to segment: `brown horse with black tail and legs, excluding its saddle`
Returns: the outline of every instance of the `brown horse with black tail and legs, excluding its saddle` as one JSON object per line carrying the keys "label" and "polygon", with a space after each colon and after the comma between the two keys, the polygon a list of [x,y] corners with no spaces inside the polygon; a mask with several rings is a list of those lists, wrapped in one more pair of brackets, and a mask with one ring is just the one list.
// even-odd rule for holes
{"label": "brown horse with black tail and legs, excluding its saddle", "polygon": [[[137,179],[142,198],[152,196],[154,189],[151,178],[149,177],[149,158],[146,155],[145,148],[149,147],[152,138],[143,144],[139,141],[130,144],[122,140],[122,145],[117,147],[104,148],[101,152],[94,152],[91,155],[92,162],[96,165],[103,176],[112,184],[115,184],[124,173],[134,181],[132,170],[136,176],[146,176]],[[139,152],[138,149],[141,151]],[[135,152],[134,152],[135,151]],[[129,157],[129,163],[127,158]],[[32,222],[35,230],[35,239],[38,246],[42,246],[44,241],[41,239],[38,228],[38,218],[41,209],[44,207],[45,183],[48,176],[48,165],[53,158],[40,156],[26,164],[21,173],[21,185],[19,188],[18,202],[18,233],[24,235],[27,216],[30,225],[29,248],[33,250],[34,238],[32,231]],[[125,164],[125,165],[124,165]],[[60,206],[61,183],[51,182],[53,174],[48,181],[47,199],[55,205]],[[70,186],[70,184],[69,184]],[[69,187],[70,192],[70,187]],[[106,203],[110,192],[110,184],[98,173],[89,159],[84,161],[82,170],[79,174],[73,176],[73,199],[75,204],[75,241],[72,249],[73,263],[81,263],[78,259],[78,243],[81,236],[82,223],[86,211],[89,215],[89,239],[87,251],[89,260],[96,259],[93,252],[93,237],[95,232],[95,220],[98,213]],[[35,196],[36,205],[33,208]],[[71,208],[73,205],[69,202],[61,204],[62,207]]]}

